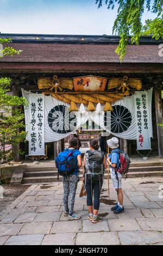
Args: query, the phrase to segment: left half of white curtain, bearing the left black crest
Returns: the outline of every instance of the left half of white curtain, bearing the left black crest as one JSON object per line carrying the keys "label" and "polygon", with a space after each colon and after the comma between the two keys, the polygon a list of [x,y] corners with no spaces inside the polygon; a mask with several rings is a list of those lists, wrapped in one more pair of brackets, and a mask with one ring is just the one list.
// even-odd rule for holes
{"label": "left half of white curtain, bearing the left black crest", "polygon": [[[79,107],[79,106],[78,106]],[[55,142],[71,135],[89,118],[89,112],[70,112],[70,104],[45,95],[45,142]]]}

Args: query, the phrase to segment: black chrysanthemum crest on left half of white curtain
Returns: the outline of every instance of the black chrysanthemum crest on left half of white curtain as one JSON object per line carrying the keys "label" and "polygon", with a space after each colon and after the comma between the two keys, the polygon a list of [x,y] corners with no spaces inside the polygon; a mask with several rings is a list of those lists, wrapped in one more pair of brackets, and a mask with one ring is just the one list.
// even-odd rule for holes
{"label": "black chrysanthemum crest on left half of white curtain", "polygon": [[65,134],[72,132],[77,126],[77,117],[65,105],[55,106],[48,113],[48,125],[53,132]]}

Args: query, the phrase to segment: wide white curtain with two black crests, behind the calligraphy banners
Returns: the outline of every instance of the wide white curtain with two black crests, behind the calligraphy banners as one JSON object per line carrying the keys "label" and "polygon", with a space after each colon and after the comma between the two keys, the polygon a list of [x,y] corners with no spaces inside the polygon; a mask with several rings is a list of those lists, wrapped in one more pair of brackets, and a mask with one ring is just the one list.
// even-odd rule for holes
{"label": "wide white curtain with two black crests, behind the calligraphy banners", "polygon": [[[152,132],[152,90],[148,91],[148,107],[149,107],[149,128],[150,137],[153,136]],[[30,93],[32,94],[32,93]],[[22,89],[22,95],[25,97],[27,102],[29,102],[29,92]],[[74,131],[80,129],[80,127],[86,123],[87,120],[92,119],[95,124],[99,125],[103,130],[106,130],[112,135],[124,138],[124,139],[136,139],[136,117],[135,117],[135,105],[134,105],[134,95],[123,97],[121,100],[112,103],[114,107],[115,115],[112,112],[104,112],[104,106],[97,106],[97,111],[87,112],[84,111],[84,106],[80,109],[82,111],[74,111],[69,113],[70,105],[68,103],[59,101],[53,98],[51,95],[45,95],[45,105],[44,105],[44,123],[45,123],[45,142],[59,141],[59,139],[65,138],[71,135]],[[117,107],[118,106],[118,107]],[[78,106],[78,108],[80,105]],[[121,113],[117,113],[117,109],[121,108]],[[126,115],[123,116],[123,111]],[[26,131],[29,132],[29,109],[24,109],[25,120],[26,120]],[[104,117],[106,115],[106,117]],[[126,119],[126,116],[129,118]],[[112,121],[112,118],[117,119],[118,117],[122,121],[123,125],[117,125],[116,121]],[[123,117],[123,118],[122,118]],[[113,125],[115,123],[115,126]],[[121,122],[120,122],[121,123]],[[126,130],[124,129],[126,127]],[[122,127],[123,126],[123,127]],[[121,131],[115,129],[115,127],[122,128]],[[116,132],[114,132],[116,131]],[[118,132],[117,132],[118,131]],[[29,134],[27,135],[27,140],[29,141]]]}

